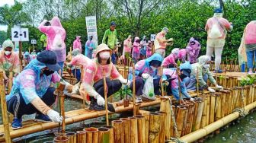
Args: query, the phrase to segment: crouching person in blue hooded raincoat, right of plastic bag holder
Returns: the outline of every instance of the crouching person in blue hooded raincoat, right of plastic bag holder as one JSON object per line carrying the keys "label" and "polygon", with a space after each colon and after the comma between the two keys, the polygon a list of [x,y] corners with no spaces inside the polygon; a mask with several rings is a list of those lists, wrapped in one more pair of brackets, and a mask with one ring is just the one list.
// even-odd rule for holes
{"label": "crouching person in blue hooded raincoat, right of plastic bag holder", "polygon": [[[166,92],[168,95],[174,95],[176,100],[181,100],[181,103],[184,103],[183,98],[188,98],[189,100],[194,100],[187,93],[187,88],[185,85],[184,78],[190,78],[192,67],[190,62],[184,62],[180,66],[180,71],[177,72],[177,68],[164,68],[163,69],[163,80],[168,81],[169,84],[166,87]],[[178,80],[180,80],[180,85],[178,84]],[[181,88],[181,95],[179,95],[179,88]]]}

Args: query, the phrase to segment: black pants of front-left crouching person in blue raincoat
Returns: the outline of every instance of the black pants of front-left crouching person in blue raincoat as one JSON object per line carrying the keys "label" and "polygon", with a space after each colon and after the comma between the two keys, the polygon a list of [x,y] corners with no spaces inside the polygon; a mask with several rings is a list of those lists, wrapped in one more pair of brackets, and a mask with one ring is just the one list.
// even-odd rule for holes
{"label": "black pants of front-left crouching person in blue raincoat", "polygon": [[[47,106],[52,106],[56,100],[56,96],[53,95],[54,91],[54,87],[49,87],[46,94],[41,98]],[[7,110],[17,118],[21,118],[23,115],[41,113],[34,107],[34,105],[32,105],[32,103],[26,104],[21,94],[14,94],[14,96],[7,101]]]}

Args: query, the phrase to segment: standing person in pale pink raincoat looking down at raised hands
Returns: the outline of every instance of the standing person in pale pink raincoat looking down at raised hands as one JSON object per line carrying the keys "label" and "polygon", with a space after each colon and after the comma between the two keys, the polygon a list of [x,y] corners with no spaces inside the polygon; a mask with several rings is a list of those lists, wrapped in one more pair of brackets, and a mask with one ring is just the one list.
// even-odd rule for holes
{"label": "standing person in pale pink raincoat looking down at raised hands", "polygon": [[173,45],[173,39],[170,38],[168,40],[165,39],[166,34],[168,33],[168,28],[164,27],[161,32],[156,34],[155,37],[155,52],[160,54],[162,58],[165,58],[165,49],[166,46]]}

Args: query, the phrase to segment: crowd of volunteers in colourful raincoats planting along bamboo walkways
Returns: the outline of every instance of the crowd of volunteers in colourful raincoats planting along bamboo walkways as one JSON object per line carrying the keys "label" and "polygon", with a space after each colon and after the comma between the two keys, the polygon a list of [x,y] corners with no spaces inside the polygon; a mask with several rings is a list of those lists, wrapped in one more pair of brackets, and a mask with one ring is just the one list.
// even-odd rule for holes
{"label": "crowd of volunteers in colourful raincoats planting along bamboo walkways", "polygon": [[[165,49],[174,43],[174,39],[165,39],[168,28],[164,27],[159,32],[154,41],[147,40],[146,37],[134,38],[129,35],[123,42],[124,64],[132,57],[135,63],[135,77],[129,68],[129,76],[123,78],[117,70],[117,50],[120,47],[117,41],[117,30],[114,22],[110,23],[110,28],[104,33],[102,43],[97,46],[93,41],[93,36],[85,44],[85,55],[82,54],[81,37],[76,37],[73,43],[73,50],[70,54],[69,62],[66,62],[66,30],[62,27],[59,17],[53,17],[51,21],[43,21],[38,29],[45,34],[41,37],[46,42],[46,50],[37,54],[28,65],[19,73],[18,55],[13,50],[11,40],[6,40],[0,52],[0,71],[4,71],[4,77],[8,78],[8,71],[14,71],[15,79],[11,93],[6,97],[8,111],[14,114],[11,124],[13,129],[22,127],[22,116],[25,114],[36,114],[36,119],[43,122],[62,122],[62,116],[50,107],[55,102],[55,88],[51,83],[62,82],[66,84],[65,90],[72,90],[72,85],[64,81],[61,73],[64,65],[72,71],[79,71],[76,67],[82,65],[84,73],[82,75],[80,91],[85,91],[86,99],[90,101],[90,110],[104,110],[104,106],[114,112],[111,103],[105,104],[104,93],[107,97],[117,93],[124,85],[130,89],[136,87],[136,103],[142,100],[155,100],[155,95],[162,94],[161,85],[166,88],[167,95],[173,95],[176,100],[184,103],[184,98],[193,100],[188,91],[207,89],[207,80],[210,80],[217,89],[219,86],[210,71],[210,62],[213,51],[215,51],[215,71],[220,72],[219,63],[221,53],[225,44],[226,30],[232,30],[232,24],[222,18],[220,8],[215,10],[215,14],[206,23],[208,33],[206,55],[199,56],[200,43],[193,37],[190,38],[187,47],[184,49],[174,48],[168,56],[165,56]],[[253,45],[249,45],[251,47]],[[26,54],[25,54],[26,55]],[[160,67],[163,67],[160,70]],[[75,70],[76,69],[76,70]],[[80,72],[80,71],[79,71]],[[18,74],[19,73],[19,74]],[[81,73],[74,73],[81,76]],[[106,79],[107,91],[104,90],[104,78]],[[135,85],[133,85],[135,79]],[[180,93],[181,91],[181,93]]]}

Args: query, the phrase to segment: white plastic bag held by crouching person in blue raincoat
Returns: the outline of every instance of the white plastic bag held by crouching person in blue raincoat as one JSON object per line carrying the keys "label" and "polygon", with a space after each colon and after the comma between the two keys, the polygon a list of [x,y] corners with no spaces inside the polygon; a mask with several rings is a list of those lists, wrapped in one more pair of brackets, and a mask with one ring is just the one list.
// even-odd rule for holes
{"label": "white plastic bag held by crouching person in blue raincoat", "polygon": [[154,99],[155,98],[155,92],[154,92],[154,82],[153,77],[149,76],[148,79],[146,79],[145,85],[143,87],[143,94],[146,96],[146,98]]}

